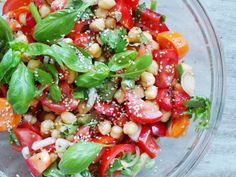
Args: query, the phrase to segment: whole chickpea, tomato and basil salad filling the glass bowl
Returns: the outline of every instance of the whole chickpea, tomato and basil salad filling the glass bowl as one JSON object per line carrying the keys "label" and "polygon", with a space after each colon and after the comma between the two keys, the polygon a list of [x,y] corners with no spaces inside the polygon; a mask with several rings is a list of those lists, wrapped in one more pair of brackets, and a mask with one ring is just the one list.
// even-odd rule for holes
{"label": "whole chickpea, tomato and basil salad filling the glass bowl", "polygon": [[209,127],[186,39],[139,0],[7,0],[0,131],[34,177],[135,176],[160,137]]}

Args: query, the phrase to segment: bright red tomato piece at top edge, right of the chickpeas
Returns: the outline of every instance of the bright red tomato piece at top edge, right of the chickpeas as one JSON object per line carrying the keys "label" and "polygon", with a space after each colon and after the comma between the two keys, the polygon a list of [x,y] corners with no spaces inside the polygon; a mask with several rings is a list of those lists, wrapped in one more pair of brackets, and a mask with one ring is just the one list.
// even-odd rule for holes
{"label": "bright red tomato piece at top edge, right of the chickpeas", "polygon": [[132,17],[132,9],[127,5],[125,0],[117,0],[114,11],[121,13],[120,24],[128,29],[134,26],[134,21]]}

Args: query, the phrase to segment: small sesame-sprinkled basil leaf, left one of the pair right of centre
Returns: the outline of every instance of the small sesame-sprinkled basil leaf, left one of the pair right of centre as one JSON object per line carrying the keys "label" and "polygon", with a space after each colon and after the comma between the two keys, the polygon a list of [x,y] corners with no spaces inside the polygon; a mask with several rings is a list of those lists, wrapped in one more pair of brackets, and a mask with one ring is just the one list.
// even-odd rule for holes
{"label": "small sesame-sprinkled basil leaf, left one of the pair right of centre", "polygon": [[119,71],[124,69],[131,64],[131,61],[133,61],[137,55],[138,53],[133,50],[127,50],[125,52],[115,54],[109,61],[108,67],[110,68],[110,71]]}

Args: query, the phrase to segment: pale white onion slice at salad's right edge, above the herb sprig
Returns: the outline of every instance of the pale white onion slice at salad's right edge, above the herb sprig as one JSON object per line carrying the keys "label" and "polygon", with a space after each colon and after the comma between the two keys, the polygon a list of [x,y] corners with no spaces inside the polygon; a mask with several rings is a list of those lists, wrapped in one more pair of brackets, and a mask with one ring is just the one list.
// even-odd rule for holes
{"label": "pale white onion slice at salad's right edge, above the herb sprig", "polygon": [[187,94],[194,96],[195,78],[192,72],[187,71],[182,74],[181,85]]}

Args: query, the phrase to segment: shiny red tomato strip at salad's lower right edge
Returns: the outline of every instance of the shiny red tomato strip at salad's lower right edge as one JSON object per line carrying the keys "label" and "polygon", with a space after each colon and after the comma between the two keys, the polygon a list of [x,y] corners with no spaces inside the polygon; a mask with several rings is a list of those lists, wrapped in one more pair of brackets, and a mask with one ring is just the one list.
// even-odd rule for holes
{"label": "shiny red tomato strip at salad's lower right edge", "polygon": [[152,131],[148,126],[142,127],[137,145],[140,149],[147,153],[150,158],[155,158],[156,155],[160,152],[160,147],[153,139]]}

